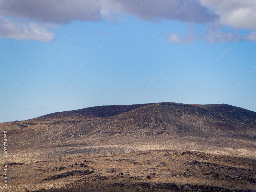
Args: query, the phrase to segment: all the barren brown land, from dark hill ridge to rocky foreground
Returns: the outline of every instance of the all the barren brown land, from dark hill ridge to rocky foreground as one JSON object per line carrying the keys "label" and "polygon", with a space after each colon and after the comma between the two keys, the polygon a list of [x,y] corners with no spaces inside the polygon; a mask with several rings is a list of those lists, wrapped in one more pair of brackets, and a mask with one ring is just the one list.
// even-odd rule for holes
{"label": "all the barren brown land, from dark hill ridge to rocky foreground", "polygon": [[[227,104],[97,106],[0,123],[1,139],[4,131],[8,131],[9,161],[17,168],[11,170],[12,191],[20,190],[15,188],[17,180],[30,191],[39,191],[45,182],[46,189],[56,182],[52,191],[68,191],[79,179],[78,183],[88,184],[88,191],[97,191],[98,183],[102,191],[111,187],[125,191],[127,186],[138,191],[256,189],[256,112]],[[80,168],[74,166],[82,159]],[[25,176],[30,169],[36,175]],[[113,176],[115,171],[118,176]],[[76,188],[80,189],[86,191]]]}

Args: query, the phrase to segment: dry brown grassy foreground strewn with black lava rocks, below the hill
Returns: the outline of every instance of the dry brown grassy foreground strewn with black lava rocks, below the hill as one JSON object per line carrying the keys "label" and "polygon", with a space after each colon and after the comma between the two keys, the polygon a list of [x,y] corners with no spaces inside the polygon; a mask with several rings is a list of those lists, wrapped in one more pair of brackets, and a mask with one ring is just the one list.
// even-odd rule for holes
{"label": "dry brown grassy foreground strewn with black lava rocks, below the hill", "polygon": [[[250,184],[246,180],[248,177],[255,177],[255,159],[220,156],[195,151],[183,154],[181,151],[172,150],[147,150],[131,153],[102,152],[105,153],[87,155],[80,153],[61,158],[42,158],[41,160],[39,160],[38,154],[34,154],[35,156],[31,156],[29,159],[25,158],[25,161],[16,157],[16,162],[25,162],[26,164],[8,166],[9,178],[13,178],[10,180],[9,190],[7,191],[25,191],[25,187],[29,191],[93,191],[92,189],[94,191],[110,191],[111,189],[112,191],[129,191],[129,189],[135,191],[136,188],[150,191],[150,187],[142,186],[143,183],[149,183],[152,188],[155,188],[155,191],[164,190],[161,184],[163,186],[166,183],[174,183],[177,186],[184,185],[187,188],[186,190],[189,190],[189,184],[217,186],[232,190],[255,189],[256,187],[255,183]],[[193,160],[212,164],[184,164]],[[165,162],[166,166],[159,167],[160,162]],[[88,167],[78,167],[75,163],[84,163]],[[73,167],[71,168],[69,165],[72,164]],[[66,168],[57,170],[59,167]],[[86,170],[90,167],[93,168],[95,173],[44,181],[48,176],[73,170]],[[228,170],[228,167],[231,167],[231,169]],[[113,170],[111,171],[111,169]],[[214,176],[214,173],[211,172],[218,173],[219,176],[215,177],[216,174]],[[123,173],[123,175],[119,175],[119,173]],[[155,176],[148,179],[147,176],[152,173]],[[101,178],[101,176],[104,177]],[[129,179],[131,180],[130,185]],[[17,182],[19,185],[16,184]],[[114,183],[122,184],[122,186],[117,186]],[[166,188],[168,189],[168,187]],[[174,189],[169,188],[169,191]]]}

